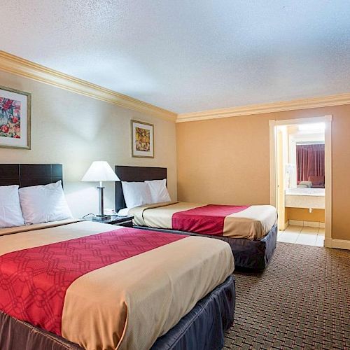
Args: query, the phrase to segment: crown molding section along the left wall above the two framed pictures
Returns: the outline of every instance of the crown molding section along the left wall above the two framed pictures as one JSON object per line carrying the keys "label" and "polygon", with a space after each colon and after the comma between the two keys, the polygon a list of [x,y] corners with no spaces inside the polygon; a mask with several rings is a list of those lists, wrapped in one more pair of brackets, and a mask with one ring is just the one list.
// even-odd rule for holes
{"label": "crown molding section along the left wall above the two framed pictures", "polygon": [[13,73],[18,76],[40,81],[41,83],[60,87],[64,90],[83,94],[94,99],[99,99],[110,104],[116,104],[132,111],[146,113],[157,118],[176,121],[176,113],[153,106],[139,99],[120,94],[105,87],[89,83],[85,80],[74,78],[68,74],[30,62],[27,59],[11,55],[0,50],[0,70]]}

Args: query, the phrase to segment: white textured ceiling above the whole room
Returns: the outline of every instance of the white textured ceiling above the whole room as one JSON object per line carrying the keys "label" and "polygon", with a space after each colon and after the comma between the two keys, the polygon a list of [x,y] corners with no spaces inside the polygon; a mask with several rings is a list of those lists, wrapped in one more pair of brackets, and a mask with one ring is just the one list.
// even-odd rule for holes
{"label": "white textured ceiling above the whole room", "polygon": [[178,113],[350,92],[350,1],[1,0],[0,49]]}

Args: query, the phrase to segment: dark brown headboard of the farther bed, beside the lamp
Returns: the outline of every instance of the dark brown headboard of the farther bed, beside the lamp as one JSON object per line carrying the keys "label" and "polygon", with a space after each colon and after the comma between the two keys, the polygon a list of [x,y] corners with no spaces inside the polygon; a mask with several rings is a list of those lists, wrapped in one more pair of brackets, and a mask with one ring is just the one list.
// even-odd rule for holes
{"label": "dark brown headboard of the farther bed, beside the lamp", "polygon": [[[114,170],[120,181],[141,182],[167,179],[167,168],[125,167],[123,165],[116,165]],[[116,181],[116,211],[126,207],[122,183],[120,181]]]}

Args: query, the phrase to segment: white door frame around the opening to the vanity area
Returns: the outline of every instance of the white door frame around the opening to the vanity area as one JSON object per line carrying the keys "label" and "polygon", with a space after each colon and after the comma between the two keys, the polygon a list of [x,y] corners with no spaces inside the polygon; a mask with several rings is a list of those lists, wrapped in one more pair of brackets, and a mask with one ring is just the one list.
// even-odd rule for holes
{"label": "white door frame around the opening to the vanity area", "polygon": [[325,123],[325,247],[332,248],[332,116],[269,120],[270,204],[276,206],[276,126]]}

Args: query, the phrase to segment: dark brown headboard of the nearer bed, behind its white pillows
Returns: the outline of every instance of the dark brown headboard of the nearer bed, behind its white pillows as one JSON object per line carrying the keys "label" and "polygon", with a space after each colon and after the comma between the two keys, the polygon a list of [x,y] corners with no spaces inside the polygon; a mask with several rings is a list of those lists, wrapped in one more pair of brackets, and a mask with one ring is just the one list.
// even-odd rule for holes
{"label": "dark brown headboard of the nearer bed, behind its white pillows", "polygon": [[0,186],[47,185],[63,180],[62,164],[0,164]]}

